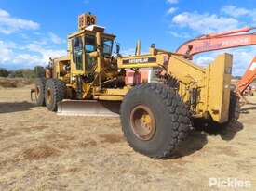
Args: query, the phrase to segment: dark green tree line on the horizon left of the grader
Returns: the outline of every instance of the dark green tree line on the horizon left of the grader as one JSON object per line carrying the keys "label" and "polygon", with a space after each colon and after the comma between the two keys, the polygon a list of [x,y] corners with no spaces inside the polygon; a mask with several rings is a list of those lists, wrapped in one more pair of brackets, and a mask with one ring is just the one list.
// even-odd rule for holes
{"label": "dark green tree line on the horizon left of the grader", "polygon": [[0,77],[4,78],[40,78],[45,76],[45,68],[35,66],[34,69],[7,70],[0,68]]}

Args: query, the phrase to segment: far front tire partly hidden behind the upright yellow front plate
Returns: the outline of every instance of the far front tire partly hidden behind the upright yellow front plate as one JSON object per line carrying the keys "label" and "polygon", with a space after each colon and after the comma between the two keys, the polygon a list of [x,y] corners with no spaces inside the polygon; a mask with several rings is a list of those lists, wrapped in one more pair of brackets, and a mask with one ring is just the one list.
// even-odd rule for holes
{"label": "far front tire partly hidden behind the upright yellow front plate", "polygon": [[240,117],[240,104],[239,96],[236,92],[230,92],[230,105],[229,105],[229,122],[236,122]]}

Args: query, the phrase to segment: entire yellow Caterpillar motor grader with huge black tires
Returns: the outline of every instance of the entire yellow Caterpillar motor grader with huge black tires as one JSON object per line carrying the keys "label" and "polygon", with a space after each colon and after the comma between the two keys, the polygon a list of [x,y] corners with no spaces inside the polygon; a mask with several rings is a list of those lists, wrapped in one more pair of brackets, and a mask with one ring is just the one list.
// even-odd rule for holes
{"label": "entire yellow Caterpillar motor grader with huge black tires", "polygon": [[46,78],[35,83],[38,106],[64,115],[120,116],[129,146],[154,159],[170,156],[186,138],[193,119],[237,120],[238,102],[230,90],[232,56],[223,54],[207,68],[184,55],[151,45],[141,55],[123,57],[115,35],[78,17],[68,36],[68,54],[50,59]]}

